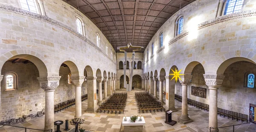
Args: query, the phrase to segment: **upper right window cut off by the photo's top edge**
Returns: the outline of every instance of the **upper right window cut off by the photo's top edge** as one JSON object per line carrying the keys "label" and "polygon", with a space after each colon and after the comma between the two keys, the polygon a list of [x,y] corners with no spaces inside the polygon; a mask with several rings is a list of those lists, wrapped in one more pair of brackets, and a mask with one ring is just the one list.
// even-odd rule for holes
{"label": "upper right window cut off by the photo's top edge", "polygon": [[227,0],[224,15],[241,11],[244,0]]}

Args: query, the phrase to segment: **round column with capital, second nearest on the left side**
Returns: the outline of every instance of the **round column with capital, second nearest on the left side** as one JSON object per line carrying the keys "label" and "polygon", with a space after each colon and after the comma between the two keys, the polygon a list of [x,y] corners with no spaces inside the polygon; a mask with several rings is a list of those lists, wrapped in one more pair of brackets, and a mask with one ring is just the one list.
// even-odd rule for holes
{"label": "round column with capital, second nearest on the left side", "polygon": [[81,118],[82,116],[82,100],[81,100],[81,86],[84,82],[84,76],[71,76],[72,83],[76,86],[76,115],[75,118]]}

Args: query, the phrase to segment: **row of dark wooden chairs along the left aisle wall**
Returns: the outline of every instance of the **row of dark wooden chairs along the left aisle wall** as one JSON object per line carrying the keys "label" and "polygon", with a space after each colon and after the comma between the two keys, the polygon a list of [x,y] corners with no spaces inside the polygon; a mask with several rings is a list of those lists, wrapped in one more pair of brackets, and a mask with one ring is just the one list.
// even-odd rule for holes
{"label": "row of dark wooden chairs along the left aisle wall", "polygon": [[[87,100],[87,94],[81,96],[81,101]],[[70,99],[54,105],[54,113],[67,109],[76,104],[76,99]]]}

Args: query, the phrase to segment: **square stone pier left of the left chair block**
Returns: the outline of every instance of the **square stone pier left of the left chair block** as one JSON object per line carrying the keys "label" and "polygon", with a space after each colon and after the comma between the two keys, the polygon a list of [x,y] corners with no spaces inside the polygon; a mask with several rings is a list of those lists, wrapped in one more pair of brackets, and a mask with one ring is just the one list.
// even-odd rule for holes
{"label": "square stone pier left of the left chair block", "polygon": [[96,112],[97,107],[97,92],[96,92],[96,79],[97,77],[86,77],[87,79],[87,95],[88,105],[86,112]]}

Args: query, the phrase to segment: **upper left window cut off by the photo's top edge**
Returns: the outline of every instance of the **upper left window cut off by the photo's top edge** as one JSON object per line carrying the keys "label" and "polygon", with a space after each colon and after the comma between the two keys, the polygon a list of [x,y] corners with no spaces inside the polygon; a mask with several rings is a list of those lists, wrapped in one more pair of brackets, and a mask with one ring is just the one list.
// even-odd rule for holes
{"label": "upper left window cut off by the photo's top edge", "polygon": [[27,11],[38,13],[35,0],[20,0],[21,8]]}

